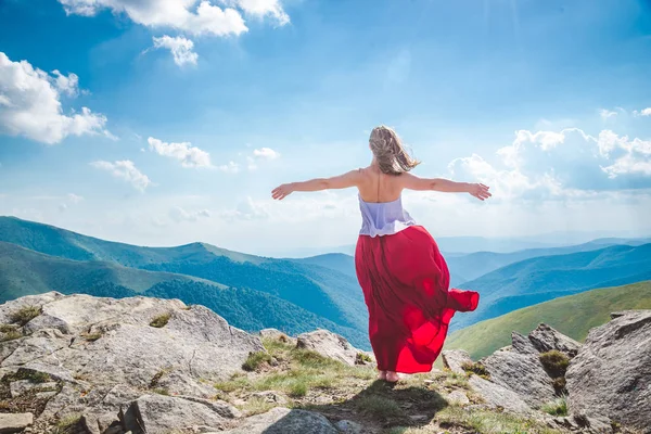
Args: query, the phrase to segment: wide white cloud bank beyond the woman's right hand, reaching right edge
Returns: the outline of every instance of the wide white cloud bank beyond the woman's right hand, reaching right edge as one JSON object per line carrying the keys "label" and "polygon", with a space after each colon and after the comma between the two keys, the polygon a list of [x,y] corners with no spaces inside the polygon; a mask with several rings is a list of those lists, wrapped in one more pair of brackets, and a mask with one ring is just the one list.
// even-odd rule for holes
{"label": "wide white cloud bank beyond the woman's right hand, reaching right edge", "polygon": [[651,187],[651,141],[611,130],[598,137],[577,128],[520,130],[490,163],[473,154],[449,165],[461,175],[490,184],[495,196],[510,199],[588,197],[595,192]]}

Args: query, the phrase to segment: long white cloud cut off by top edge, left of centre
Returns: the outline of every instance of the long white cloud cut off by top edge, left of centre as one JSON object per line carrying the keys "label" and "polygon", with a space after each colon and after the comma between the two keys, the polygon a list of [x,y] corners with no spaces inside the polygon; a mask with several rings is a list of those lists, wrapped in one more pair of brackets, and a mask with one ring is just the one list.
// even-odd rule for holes
{"label": "long white cloud cut off by top edge, left of centre", "polygon": [[94,16],[108,9],[148,27],[166,27],[192,35],[228,36],[247,31],[240,12],[195,0],[59,0],[67,14]]}

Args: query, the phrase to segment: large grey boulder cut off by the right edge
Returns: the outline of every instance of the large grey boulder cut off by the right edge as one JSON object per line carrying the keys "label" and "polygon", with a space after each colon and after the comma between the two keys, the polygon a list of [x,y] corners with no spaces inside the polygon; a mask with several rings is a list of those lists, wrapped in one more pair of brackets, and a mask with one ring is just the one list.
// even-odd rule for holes
{"label": "large grey boulder cut off by the right edge", "polygon": [[651,310],[616,314],[590,330],[565,379],[573,412],[651,432]]}

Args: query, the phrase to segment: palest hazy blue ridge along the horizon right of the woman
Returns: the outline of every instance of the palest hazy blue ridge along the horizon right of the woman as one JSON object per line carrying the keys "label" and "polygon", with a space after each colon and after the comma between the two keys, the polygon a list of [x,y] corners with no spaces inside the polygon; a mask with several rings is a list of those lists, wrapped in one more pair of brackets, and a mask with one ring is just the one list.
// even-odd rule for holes
{"label": "palest hazy blue ridge along the horizon right of the woman", "polygon": [[456,285],[462,283],[459,279],[470,281],[509,264],[519,263],[533,257],[596,251],[610,245],[642,245],[650,242],[651,239],[597,239],[578,245],[527,248],[513,253],[476,252],[469,255],[446,255],[446,261],[450,272],[457,278],[456,282],[455,279],[452,279],[452,283]]}

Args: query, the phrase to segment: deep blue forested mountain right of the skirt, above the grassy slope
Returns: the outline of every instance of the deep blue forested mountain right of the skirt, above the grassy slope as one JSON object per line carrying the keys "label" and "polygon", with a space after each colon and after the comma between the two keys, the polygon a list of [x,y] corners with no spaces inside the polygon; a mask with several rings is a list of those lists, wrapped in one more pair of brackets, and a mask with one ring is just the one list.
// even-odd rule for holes
{"label": "deep blue forested mountain right of the skirt, above the grassy slope", "polygon": [[460,286],[481,294],[474,312],[456,318],[452,329],[596,288],[651,279],[651,244],[615,245],[567,255],[522,260]]}

